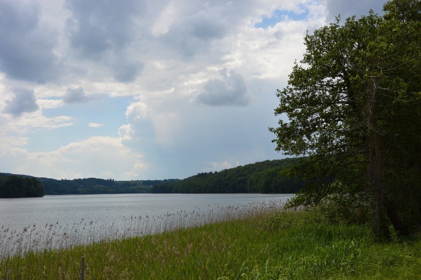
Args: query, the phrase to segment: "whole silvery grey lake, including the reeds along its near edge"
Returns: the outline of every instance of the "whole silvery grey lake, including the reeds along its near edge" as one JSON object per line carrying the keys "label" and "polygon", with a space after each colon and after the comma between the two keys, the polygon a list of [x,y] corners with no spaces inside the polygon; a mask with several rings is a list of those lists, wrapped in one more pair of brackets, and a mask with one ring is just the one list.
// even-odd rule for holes
{"label": "whole silvery grey lake, including the reeds along its near edge", "polygon": [[279,208],[293,196],[118,194],[0,199],[0,256],[27,247],[74,246],[241,218],[263,208]]}

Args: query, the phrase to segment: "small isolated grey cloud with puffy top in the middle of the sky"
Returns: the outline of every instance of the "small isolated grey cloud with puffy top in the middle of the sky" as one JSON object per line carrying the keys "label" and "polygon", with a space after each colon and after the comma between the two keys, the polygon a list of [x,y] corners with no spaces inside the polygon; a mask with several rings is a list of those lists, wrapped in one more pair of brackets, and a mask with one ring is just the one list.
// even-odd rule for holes
{"label": "small isolated grey cloud with puffy top in the middle of the sky", "polygon": [[223,69],[223,80],[209,80],[205,91],[197,96],[197,102],[208,106],[247,106],[250,95],[246,82],[240,74]]}

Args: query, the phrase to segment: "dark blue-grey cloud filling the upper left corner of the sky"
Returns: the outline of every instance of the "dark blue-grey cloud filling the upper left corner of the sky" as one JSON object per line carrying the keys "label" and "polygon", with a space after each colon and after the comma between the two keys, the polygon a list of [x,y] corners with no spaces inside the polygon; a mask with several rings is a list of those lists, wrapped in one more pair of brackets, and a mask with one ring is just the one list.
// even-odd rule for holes
{"label": "dark blue-grey cloud filling the upper left corner of the sky", "polygon": [[0,1],[0,71],[12,79],[46,82],[56,77],[55,34],[40,15],[36,1]]}

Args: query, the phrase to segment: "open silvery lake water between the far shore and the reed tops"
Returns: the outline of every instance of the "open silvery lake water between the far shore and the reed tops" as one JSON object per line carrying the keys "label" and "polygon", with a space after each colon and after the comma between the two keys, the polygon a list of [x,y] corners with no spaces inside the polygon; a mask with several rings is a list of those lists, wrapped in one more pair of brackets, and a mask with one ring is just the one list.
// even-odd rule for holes
{"label": "open silvery lake water between the far shore and the reed tops", "polygon": [[73,224],[82,219],[118,222],[130,216],[160,216],[180,211],[204,211],[217,206],[287,200],[292,195],[263,194],[123,194],[45,196],[0,199],[0,227],[22,230],[49,223]]}

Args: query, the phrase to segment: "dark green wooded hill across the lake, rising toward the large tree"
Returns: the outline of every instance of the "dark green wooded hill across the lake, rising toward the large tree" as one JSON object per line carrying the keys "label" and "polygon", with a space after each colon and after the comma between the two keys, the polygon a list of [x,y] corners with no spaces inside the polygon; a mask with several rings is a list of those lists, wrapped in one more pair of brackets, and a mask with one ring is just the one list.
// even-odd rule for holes
{"label": "dark green wooded hill across the lake, rising toward the large tree", "polygon": [[198,173],[184,180],[154,185],[151,193],[296,193],[304,187],[303,181],[278,173],[298,160],[265,160],[220,172]]}

